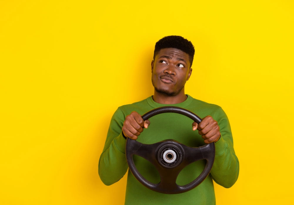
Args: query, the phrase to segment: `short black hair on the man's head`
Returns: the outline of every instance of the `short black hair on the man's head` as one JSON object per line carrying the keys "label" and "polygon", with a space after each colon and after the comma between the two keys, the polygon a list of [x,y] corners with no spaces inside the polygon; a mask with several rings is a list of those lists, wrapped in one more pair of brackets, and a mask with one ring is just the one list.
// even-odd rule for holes
{"label": "short black hair on the man's head", "polygon": [[160,39],[155,44],[153,60],[158,52],[163,48],[176,48],[180,49],[181,51],[187,53],[189,55],[190,60],[190,68],[193,63],[193,58],[195,54],[195,49],[191,41],[181,37],[181,36],[166,36]]}

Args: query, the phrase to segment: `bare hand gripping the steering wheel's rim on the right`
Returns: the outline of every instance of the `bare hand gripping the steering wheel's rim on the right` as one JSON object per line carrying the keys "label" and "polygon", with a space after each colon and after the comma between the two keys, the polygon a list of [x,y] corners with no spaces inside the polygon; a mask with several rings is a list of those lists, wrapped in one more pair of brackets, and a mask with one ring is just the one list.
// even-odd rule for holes
{"label": "bare hand gripping the steering wheel's rim on the right", "polygon": [[196,129],[199,130],[198,133],[202,136],[206,144],[216,142],[220,139],[220,127],[218,126],[218,122],[209,115],[204,117],[199,124],[193,122],[192,129],[194,131]]}

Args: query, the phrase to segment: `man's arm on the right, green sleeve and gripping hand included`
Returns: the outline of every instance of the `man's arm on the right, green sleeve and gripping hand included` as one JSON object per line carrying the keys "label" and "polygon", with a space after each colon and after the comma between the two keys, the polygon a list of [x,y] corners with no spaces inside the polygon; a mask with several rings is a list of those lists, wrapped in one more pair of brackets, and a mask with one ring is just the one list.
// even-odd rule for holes
{"label": "man's arm on the right, green sleeve and gripping hand included", "polygon": [[215,115],[203,118],[199,125],[193,122],[193,130],[198,129],[205,143],[215,142],[216,156],[211,169],[213,180],[229,188],[237,181],[239,175],[239,161],[233,148],[233,136],[230,123],[225,112],[219,108]]}

